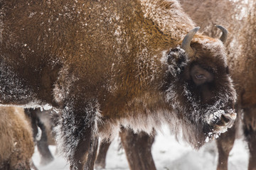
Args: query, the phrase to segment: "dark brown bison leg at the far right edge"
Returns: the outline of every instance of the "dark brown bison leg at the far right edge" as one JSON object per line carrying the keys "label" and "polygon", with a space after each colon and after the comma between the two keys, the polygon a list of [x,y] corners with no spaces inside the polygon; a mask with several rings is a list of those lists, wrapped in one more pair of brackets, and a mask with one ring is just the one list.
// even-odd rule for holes
{"label": "dark brown bison leg at the far right edge", "polygon": [[244,134],[250,157],[248,170],[256,170],[256,107],[244,109]]}

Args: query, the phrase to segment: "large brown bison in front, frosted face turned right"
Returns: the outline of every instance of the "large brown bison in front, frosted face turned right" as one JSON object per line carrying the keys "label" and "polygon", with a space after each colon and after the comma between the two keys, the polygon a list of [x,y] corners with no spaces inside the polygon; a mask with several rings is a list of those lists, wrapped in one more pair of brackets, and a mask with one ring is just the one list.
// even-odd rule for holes
{"label": "large brown bison in front, frosted face turned right", "polygon": [[198,148],[235,120],[223,42],[176,0],[2,0],[0,13],[0,103],[58,111],[70,169],[92,169],[120,125],[168,123]]}

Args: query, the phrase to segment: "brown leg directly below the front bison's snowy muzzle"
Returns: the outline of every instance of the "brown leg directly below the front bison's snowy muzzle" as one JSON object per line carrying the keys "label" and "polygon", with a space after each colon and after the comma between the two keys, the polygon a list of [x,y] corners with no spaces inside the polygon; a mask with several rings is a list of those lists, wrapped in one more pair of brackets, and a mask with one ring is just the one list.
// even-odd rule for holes
{"label": "brown leg directly below the front bison's snowy muzzle", "polygon": [[217,139],[218,166],[217,170],[228,170],[228,155],[235,141],[235,127],[220,135]]}

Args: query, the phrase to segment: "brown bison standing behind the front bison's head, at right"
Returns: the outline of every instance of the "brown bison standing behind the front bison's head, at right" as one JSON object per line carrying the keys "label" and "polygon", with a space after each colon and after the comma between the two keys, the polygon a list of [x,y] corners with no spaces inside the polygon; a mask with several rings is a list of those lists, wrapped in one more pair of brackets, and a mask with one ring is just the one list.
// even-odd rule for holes
{"label": "brown bison standing behind the front bison's head, at right", "polygon": [[248,169],[256,169],[256,2],[180,1],[185,11],[193,21],[200,23],[201,29],[207,35],[220,36],[217,29],[214,29],[214,24],[220,21],[230,32],[225,45],[228,50],[230,75],[238,94],[236,108],[241,120],[236,123],[236,129],[228,130],[218,140],[218,169],[228,169],[228,155],[233,147],[235,132],[239,133],[240,121],[250,149]]}

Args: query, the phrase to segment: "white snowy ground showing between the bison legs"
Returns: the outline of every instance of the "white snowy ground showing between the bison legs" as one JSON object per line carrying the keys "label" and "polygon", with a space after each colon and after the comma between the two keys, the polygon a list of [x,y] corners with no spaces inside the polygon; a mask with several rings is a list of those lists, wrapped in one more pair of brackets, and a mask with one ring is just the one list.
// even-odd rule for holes
{"label": "white snowy ground showing between the bison legs", "polygon": [[[110,145],[107,153],[106,169],[124,170],[129,169],[124,150],[118,151],[119,141],[115,139]],[[33,162],[39,170],[68,170],[69,164],[65,159],[55,154],[55,146],[50,146],[55,160],[47,166],[40,165],[40,156],[37,149],[33,154]],[[218,154],[215,151],[215,142],[209,142],[198,151],[192,149],[183,142],[177,142],[174,135],[170,135],[167,128],[163,132],[158,132],[156,136],[152,154],[159,170],[215,170]],[[230,152],[228,169],[247,169],[248,150],[242,139],[236,140]]]}

